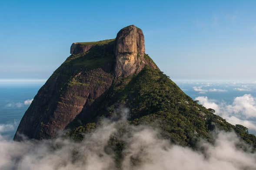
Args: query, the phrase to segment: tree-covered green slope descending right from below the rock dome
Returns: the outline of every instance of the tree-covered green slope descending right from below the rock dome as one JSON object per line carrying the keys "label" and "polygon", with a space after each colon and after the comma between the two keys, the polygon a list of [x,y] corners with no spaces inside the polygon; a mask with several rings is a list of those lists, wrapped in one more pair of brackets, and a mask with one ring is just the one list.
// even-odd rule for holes
{"label": "tree-covered green slope descending right from below the rock dome", "polygon": [[[147,56],[149,57],[149,56]],[[120,78],[112,85],[106,98],[82,126],[112,117],[120,106],[130,108],[128,119],[133,125],[149,125],[161,130],[161,136],[174,144],[196,147],[199,138],[214,142],[211,131],[236,131],[244,141],[256,147],[256,137],[241,125],[233,126],[187,96],[163,72],[146,66],[138,75]],[[73,131],[76,136],[77,129]],[[81,133],[85,133],[86,130]]]}

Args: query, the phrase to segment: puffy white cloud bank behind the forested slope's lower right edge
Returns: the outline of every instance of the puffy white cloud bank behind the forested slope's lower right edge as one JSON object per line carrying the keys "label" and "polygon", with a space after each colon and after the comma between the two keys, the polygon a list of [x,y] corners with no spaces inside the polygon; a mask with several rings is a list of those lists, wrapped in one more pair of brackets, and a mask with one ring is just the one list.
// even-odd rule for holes
{"label": "puffy white cloud bank behind the forested slope's lower right edge", "polygon": [[256,98],[250,94],[234,98],[231,105],[221,102],[217,104],[206,96],[195,98],[206,108],[213,108],[216,114],[231,124],[242,124],[249,130],[256,132]]}

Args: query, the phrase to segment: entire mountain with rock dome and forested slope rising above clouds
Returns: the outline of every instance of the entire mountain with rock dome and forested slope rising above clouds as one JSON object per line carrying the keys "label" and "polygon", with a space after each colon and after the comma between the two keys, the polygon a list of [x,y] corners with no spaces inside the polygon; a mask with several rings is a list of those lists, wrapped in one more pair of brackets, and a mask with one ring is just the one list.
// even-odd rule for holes
{"label": "entire mountain with rock dome and forested slope rising above clouds", "polygon": [[215,129],[235,131],[256,147],[256,137],[186,95],[145,53],[144,35],[134,25],[115,39],[76,42],[71,55],[38,91],[14,140],[50,139],[66,130],[76,140],[103,118],[116,120],[129,108],[129,124],[148,125],[174,144],[194,147],[213,141]]}

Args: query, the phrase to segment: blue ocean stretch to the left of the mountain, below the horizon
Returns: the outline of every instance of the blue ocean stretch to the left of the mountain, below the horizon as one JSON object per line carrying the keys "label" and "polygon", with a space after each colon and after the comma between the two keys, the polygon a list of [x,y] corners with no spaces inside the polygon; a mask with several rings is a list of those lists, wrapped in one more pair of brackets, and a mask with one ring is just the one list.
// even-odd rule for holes
{"label": "blue ocean stretch to the left of the mountain, below the horizon", "polygon": [[0,82],[0,134],[13,138],[31,99],[44,82]]}

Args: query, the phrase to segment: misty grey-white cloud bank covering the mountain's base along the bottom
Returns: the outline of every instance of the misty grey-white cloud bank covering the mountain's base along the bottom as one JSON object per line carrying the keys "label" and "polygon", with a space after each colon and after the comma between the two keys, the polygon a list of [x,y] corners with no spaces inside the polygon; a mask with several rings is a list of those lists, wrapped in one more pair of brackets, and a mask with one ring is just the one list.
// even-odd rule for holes
{"label": "misty grey-white cloud bank covering the mountain's base along the bottom", "polygon": [[[109,141],[120,126],[129,126],[123,159],[116,168],[116,156]],[[256,154],[236,148],[234,133],[219,132],[214,145],[200,141],[204,153],[172,145],[150,127],[107,121],[81,143],[63,138],[45,141],[8,141],[0,136],[2,170],[243,170],[256,169]]]}

